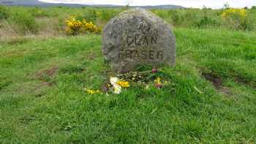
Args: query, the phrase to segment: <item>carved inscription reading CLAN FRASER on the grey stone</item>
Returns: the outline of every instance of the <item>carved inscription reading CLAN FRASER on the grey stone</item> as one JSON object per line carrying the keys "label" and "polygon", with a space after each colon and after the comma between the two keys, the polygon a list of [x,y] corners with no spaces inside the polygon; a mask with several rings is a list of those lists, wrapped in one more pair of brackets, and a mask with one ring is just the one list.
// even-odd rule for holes
{"label": "carved inscription reading CLAN FRASER on the grey stone", "polygon": [[154,50],[157,45],[157,30],[145,18],[132,18],[128,25],[126,47],[118,51],[118,59],[162,60],[162,50]]}

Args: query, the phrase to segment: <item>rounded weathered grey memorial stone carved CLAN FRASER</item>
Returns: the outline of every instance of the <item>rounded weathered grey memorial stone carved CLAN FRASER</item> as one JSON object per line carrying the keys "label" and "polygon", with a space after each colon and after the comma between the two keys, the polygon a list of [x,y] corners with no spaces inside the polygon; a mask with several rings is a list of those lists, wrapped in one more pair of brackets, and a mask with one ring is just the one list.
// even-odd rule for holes
{"label": "rounded weathered grey memorial stone carved CLAN FRASER", "polygon": [[105,26],[102,51],[110,67],[128,72],[138,65],[174,65],[176,38],[170,25],[146,10],[121,12]]}

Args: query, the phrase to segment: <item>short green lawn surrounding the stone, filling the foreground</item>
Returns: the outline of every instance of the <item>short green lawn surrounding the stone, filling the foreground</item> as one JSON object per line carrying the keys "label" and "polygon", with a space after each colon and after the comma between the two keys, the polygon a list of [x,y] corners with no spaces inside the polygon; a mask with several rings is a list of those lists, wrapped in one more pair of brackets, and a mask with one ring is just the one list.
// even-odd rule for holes
{"label": "short green lawn surrounding the stone, filling the foreground", "polygon": [[256,34],[175,34],[170,85],[109,96],[100,35],[2,42],[0,143],[256,143]]}

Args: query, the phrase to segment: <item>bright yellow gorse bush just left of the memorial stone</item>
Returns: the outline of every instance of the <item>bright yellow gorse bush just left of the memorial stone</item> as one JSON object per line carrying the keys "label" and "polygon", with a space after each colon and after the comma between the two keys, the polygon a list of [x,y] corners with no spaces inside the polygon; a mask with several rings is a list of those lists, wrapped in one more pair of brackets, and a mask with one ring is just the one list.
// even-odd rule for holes
{"label": "bright yellow gorse bush just left of the memorial stone", "polygon": [[83,34],[88,31],[94,33],[101,33],[102,28],[96,26],[92,22],[87,22],[85,19],[77,20],[75,16],[71,16],[68,20],[66,20],[66,34]]}

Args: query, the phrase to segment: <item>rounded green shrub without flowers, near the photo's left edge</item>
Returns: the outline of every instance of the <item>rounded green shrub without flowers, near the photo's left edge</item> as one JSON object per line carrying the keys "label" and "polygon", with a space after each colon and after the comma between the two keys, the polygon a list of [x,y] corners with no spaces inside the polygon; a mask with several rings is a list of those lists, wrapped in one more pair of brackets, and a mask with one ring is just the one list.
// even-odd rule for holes
{"label": "rounded green shrub without flowers, near the photo's left edge", "polygon": [[8,20],[14,23],[22,34],[36,34],[39,28],[33,15],[24,10],[12,12]]}

